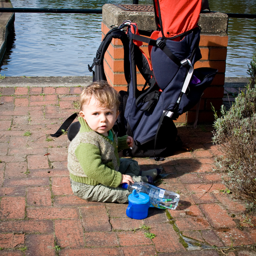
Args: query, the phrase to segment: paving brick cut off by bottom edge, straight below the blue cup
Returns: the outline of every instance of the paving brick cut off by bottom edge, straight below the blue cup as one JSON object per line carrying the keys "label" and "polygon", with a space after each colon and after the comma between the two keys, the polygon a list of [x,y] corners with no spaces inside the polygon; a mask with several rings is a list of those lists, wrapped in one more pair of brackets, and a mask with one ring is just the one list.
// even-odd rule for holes
{"label": "paving brick cut off by bottom edge, straight below the blue cup", "polygon": [[156,249],[151,245],[120,247],[120,255],[125,256],[152,256],[156,255],[156,253]]}

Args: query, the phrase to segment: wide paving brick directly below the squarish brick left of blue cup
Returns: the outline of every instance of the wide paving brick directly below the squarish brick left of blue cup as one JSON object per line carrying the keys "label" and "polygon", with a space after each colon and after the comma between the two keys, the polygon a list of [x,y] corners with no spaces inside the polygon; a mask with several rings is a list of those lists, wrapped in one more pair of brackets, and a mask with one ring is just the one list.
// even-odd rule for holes
{"label": "wide paving brick directly below the squarish brick left of blue cup", "polygon": [[110,244],[111,246],[119,246],[117,233],[119,232],[85,232],[86,246],[107,247]]}

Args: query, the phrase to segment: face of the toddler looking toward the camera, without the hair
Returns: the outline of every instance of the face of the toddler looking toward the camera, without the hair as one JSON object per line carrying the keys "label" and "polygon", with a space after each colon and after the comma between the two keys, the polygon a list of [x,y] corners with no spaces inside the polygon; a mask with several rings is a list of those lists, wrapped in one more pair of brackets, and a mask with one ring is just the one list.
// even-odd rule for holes
{"label": "face of the toddler looking toward the camera, without the hair", "polygon": [[80,111],[80,116],[88,126],[104,136],[108,136],[108,131],[114,126],[118,114],[116,106],[112,109],[104,108],[93,96],[89,104],[84,104]]}

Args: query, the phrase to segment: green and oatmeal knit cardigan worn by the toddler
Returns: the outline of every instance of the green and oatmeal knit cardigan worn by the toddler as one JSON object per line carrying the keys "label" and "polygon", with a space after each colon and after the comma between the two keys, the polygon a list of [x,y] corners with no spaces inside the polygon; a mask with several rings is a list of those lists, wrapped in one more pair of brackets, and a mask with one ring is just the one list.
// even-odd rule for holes
{"label": "green and oatmeal knit cardigan worn by the toddler", "polygon": [[78,120],[81,128],[68,147],[70,178],[89,185],[117,187],[122,180],[118,150],[128,148],[127,135],[117,138],[112,130],[112,142],[89,128],[83,118]]}

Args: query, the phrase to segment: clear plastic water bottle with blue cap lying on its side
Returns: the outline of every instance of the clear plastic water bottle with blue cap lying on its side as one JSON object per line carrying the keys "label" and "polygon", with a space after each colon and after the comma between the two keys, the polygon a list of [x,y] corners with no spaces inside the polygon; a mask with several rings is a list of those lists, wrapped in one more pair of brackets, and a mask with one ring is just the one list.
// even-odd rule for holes
{"label": "clear plastic water bottle with blue cap lying on its side", "polygon": [[148,194],[151,207],[175,210],[180,200],[179,194],[161,189],[146,182],[134,182],[130,185],[123,183],[122,187],[131,192],[135,189],[137,193],[142,192]]}

